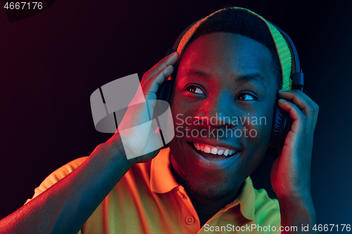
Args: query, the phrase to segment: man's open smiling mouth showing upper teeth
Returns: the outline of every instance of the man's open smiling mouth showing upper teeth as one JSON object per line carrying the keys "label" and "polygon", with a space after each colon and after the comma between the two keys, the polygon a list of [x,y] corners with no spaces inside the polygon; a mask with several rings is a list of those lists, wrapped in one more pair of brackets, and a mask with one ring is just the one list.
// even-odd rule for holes
{"label": "man's open smiling mouth showing upper teeth", "polygon": [[228,148],[222,148],[218,146],[206,145],[203,143],[195,143],[187,141],[189,146],[196,151],[199,155],[210,161],[222,161],[227,160],[234,155],[239,154],[239,150],[231,150]]}

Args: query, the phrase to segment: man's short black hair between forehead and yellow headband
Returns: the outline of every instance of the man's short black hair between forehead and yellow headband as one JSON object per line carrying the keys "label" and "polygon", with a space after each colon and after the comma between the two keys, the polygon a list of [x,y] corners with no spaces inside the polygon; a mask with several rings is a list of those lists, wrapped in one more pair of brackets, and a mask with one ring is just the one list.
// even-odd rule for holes
{"label": "man's short black hair between forehead and yellow headband", "polygon": [[260,44],[263,44],[263,46],[266,46],[272,54],[272,68],[276,77],[277,87],[278,89],[281,89],[282,70],[275,42],[272,39],[270,30],[263,20],[244,9],[227,7],[225,10],[210,16],[205,22],[199,25],[199,28],[184,46],[180,58],[182,58],[184,51],[186,51],[192,41],[198,37],[213,32],[232,32],[235,34],[241,34],[242,36],[249,37],[258,41]]}

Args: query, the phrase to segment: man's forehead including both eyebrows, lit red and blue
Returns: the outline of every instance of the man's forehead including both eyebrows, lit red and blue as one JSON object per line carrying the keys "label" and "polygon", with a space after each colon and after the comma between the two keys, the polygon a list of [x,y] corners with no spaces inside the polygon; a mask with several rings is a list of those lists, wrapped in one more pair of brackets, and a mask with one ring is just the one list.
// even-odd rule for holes
{"label": "man's forehead including both eyebrows, lit red and blue", "polygon": [[272,75],[268,48],[240,34],[217,32],[194,40],[184,51],[177,74],[184,77],[229,77],[264,85]]}

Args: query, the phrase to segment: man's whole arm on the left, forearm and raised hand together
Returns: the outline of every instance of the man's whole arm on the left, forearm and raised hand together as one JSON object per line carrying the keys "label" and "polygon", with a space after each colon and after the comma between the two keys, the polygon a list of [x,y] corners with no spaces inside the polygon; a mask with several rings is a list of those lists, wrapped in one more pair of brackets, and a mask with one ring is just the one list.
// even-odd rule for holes
{"label": "man's whole arm on the left, forearm and raised hand together", "polygon": [[[158,87],[172,74],[177,57],[172,53],[146,72],[143,92],[137,91],[132,100],[151,100],[151,116]],[[153,139],[147,109],[143,103],[129,106],[118,131],[106,143],[98,145],[80,167],[2,219],[0,233],[77,233],[133,164],[147,162],[160,151],[149,152]],[[123,145],[120,126],[125,129]],[[127,160],[126,153],[135,157]]]}

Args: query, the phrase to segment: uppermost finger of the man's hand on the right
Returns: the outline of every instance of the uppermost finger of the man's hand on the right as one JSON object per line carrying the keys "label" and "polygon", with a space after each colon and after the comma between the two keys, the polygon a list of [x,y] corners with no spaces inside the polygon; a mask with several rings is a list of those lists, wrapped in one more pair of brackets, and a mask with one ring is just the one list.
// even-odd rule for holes
{"label": "uppermost finger of the man's hand on the right", "polygon": [[300,90],[291,91],[279,91],[279,97],[284,100],[289,100],[294,103],[304,115],[306,115],[308,121],[307,124],[310,129],[314,129],[316,124],[316,119],[318,115],[316,113],[316,103]]}

